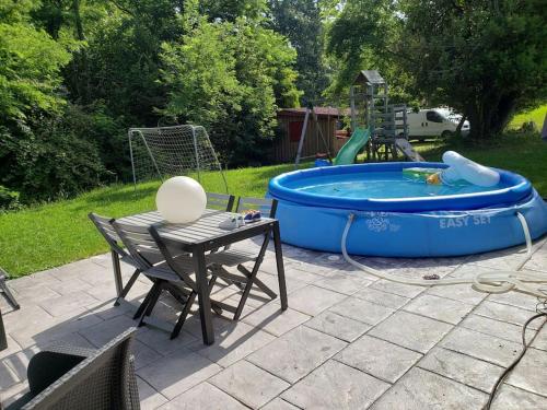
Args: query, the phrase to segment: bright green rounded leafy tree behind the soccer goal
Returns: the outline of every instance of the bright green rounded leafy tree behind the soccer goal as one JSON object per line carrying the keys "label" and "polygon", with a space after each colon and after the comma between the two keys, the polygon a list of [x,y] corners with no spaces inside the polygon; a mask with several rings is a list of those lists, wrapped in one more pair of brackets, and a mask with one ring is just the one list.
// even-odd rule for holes
{"label": "bright green rounded leafy tree behind the soccer goal", "polygon": [[295,52],[259,22],[205,17],[179,43],[164,44],[163,113],[203,125],[222,160],[233,165],[264,161],[274,137],[277,104],[298,104]]}

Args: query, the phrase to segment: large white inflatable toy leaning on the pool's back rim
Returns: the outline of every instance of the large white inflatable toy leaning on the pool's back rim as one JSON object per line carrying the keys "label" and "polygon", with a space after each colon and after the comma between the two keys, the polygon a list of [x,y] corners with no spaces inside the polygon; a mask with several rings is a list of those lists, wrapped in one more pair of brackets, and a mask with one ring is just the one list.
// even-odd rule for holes
{"label": "large white inflatable toy leaning on the pool's back rim", "polygon": [[446,169],[428,177],[429,184],[454,185],[465,180],[479,187],[493,187],[500,181],[500,174],[487,166],[477,164],[454,151],[443,154],[443,162],[450,165]]}

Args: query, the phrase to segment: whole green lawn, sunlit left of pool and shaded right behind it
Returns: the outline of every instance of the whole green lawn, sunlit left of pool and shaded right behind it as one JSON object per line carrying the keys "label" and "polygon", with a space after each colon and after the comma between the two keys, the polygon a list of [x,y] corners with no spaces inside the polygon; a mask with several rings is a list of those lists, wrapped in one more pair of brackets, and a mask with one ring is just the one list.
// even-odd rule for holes
{"label": "whole green lawn, sunlit left of pool and shaded right behind it", "polygon": [[[547,144],[537,136],[514,133],[480,147],[442,141],[416,147],[429,161],[440,160],[451,149],[482,164],[517,172],[547,196]],[[292,165],[234,169],[226,178],[231,194],[260,197],[271,177],[291,169]],[[206,175],[203,186],[223,190],[219,175]],[[115,185],[72,200],[0,214],[0,266],[19,277],[104,253],[106,244],[88,212],[117,218],[151,210],[158,187],[159,183],[147,183],[135,191],[132,185]]]}

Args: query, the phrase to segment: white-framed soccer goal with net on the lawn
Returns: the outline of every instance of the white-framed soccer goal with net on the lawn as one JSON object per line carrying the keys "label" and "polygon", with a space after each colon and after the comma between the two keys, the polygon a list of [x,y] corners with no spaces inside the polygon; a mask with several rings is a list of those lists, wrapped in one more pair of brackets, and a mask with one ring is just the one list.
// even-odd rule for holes
{"label": "white-framed soccer goal with net on the lawn", "polygon": [[203,174],[218,172],[224,189],[228,184],[214,148],[201,126],[130,128],[129,153],[133,184],[159,177],[195,175],[201,183]]}

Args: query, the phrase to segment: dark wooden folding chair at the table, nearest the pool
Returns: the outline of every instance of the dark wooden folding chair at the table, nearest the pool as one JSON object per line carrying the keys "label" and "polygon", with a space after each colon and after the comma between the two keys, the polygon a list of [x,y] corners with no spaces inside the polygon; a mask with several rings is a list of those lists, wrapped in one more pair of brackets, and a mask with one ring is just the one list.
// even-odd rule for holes
{"label": "dark wooden folding chair at the table, nearest the pool", "polygon": [[[275,218],[277,210],[277,200],[275,199],[261,199],[261,198],[248,198],[242,197],[237,201],[237,212],[243,212],[245,210],[259,210],[260,213],[268,218]],[[260,263],[263,262],[264,255],[266,254],[266,249],[268,247],[270,236],[265,235],[263,245],[260,246],[260,250],[258,255],[255,251],[245,250],[245,249],[234,249],[234,248],[224,248],[223,250],[209,254],[206,256],[206,261],[213,272],[213,278],[222,278],[225,281],[229,281],[235,285],[237,285],[242,291],[243,295],[237,304],[237,307],[233,307],[225,303],[211,300],[211,304],[213,306],[218,306],[223,311],[228,311],[234,314],[233,319],[238,320],[241,314],[243,312],[243,307],[247,301],[247,297],[251,293],[253,285],[256,285],[260,291],[266,293],[270,298],[276,298],[277,294],[269,289],[263,281],[257,278],[258,269]],[[254,262],[253,269],[248,270],[243,263]],[[236,272],[230,272],[225,268],[235,267],[237,269]]]}

